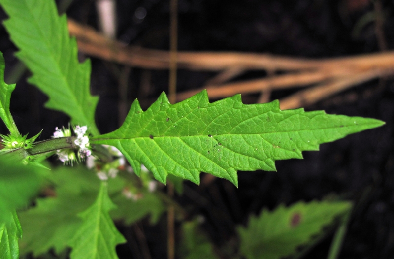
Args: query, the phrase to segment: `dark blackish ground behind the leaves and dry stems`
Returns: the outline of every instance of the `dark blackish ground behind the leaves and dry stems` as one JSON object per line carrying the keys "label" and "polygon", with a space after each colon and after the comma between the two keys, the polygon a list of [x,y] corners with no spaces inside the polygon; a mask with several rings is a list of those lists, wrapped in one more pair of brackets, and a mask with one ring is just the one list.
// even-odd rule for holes
{"label": "dark blackish ground behind the leaves and dry stems", "polygon": [[[60,1],[57,1],[60,2]],[[384,36],[394,49],[394,1],[381,0]],[[146,16],[138,19],[137,8]],[[141,9],[139,9],[141,10]],[[374,11],[368,0],[179,0],[179,50],[261,52],[290,57],[326,58],[379,52],[374,22],[357,29],[365,15]],[[74,20],[98,28],[93,0],[78,0],[67,9]],[[117,0],[117,39],[125,44],[168,50],[169,3],[164,0]],[[3,20],[6,15],[0,13]],[[15,46],[0,26],[0,50],[6,60],[6,78],[17,63]],[[92,58],[92,93],[100,96],[97,122],[102,133],[117,129],[118,79],[121,65]],[[178,91],[201,87],[212,72],[178,71]],[[250,72],[239,78],[262,76]],[[26,83],[29,72],[18,81],[11,112],[23,134],[41,129],[49,138],[68,118],[43,108],[47,97]],[[131,68],[129,105],[138,97],[146,109],[168,88],[168,71]],[[146,81],[149,84],[146,84]],[[8,82],[10,83],[10,82]],[[149,87],[144,87],[148,85]],[[277,91],[272,99],[292,91]],[[243,97],[245,103],[257,96]],[[229,251],[236,242],[235,226],[246,224],[250,213],[280,203],[310,201],[337,194],[357,205],[351,217],[340,259],[394,258],[394,81],[384,78],[351,88],[337,96],[305,107],[328,113],[380,119],[386,125],[342,140],[324,144],[319,152],[304,152],[304,160],[278,161],[278,172],[239,172],[239,188],[216,179],[210,185],[185,183],[176,199],[189,217],[205,217],[203,228],[213,243]],[[0,125],[0,132],[6,132]],[[204,174],[201,174],[204,177]],[[147,220],[144,228],[152,258],[166,258],[165,217],[157,226]],[[179,224],[177,225],[179,226]],[[121,227],[129,243],[118,247],[122,258],[142,258],[132,227]],[[304,258],[325,258],[332,235]],[[134,244],[134,245],[133,245]],[[132,255],[132,256],[131,256]],[[228,258],[226,253],[223,258]]]}

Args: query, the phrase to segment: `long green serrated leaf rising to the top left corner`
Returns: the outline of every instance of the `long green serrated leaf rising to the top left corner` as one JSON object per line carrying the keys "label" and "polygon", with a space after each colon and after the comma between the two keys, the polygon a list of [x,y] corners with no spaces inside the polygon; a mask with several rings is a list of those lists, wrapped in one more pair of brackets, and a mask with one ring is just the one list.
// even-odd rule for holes
{"label": "long green serrated leaf rising to the top left corner", "polygon": [[91,64],[78,62],[75,38],[66,15],[59,17],[54,0],[0,0],[9,19],[4,22],[19,48],[17,57],[33,72],[29,82],[49,97],[46,107],[63,111],[75,125],[98,135],[94,115],[98,97],[90,94]]}

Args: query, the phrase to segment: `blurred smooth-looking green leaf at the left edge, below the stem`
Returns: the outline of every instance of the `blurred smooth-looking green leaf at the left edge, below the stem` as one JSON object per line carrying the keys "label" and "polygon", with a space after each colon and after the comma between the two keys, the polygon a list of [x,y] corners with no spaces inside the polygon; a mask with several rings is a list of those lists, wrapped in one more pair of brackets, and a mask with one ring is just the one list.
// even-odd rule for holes
{"label": "blurred smooth-looking green leaf at the left edge, below the stem", "polygon": [[27,205],[41,185],[39,168],[15,165],[0,159],[0,222],[15,209]]}

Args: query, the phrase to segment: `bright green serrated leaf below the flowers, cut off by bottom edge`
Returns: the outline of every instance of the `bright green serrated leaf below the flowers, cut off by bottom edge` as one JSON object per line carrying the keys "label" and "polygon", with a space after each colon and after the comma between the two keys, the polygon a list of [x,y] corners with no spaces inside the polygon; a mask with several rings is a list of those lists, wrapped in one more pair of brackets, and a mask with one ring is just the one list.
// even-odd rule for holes
{"label": "bright green serrated leaf below the flowers, cut off by bottom edge", "polygon": [[72,259],[118,258],[115,246],[126,239],[108,214],[115,207],[108,196],[107,183],[101,182],[96,202],[80,214],[83,224],[70,242]]}

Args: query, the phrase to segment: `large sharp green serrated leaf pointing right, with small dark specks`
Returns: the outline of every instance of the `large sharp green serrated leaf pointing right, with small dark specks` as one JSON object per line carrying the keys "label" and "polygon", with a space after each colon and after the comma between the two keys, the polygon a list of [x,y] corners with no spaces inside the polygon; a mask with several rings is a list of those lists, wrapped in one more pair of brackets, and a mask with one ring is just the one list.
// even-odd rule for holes
{"label": "large sharp green serrated leaf pointing right, with small dark specks", "polygon": [[246,105],[240,95],[209,103],[206,91],[171,105],[163,93],[146,111],[135,100],[121,128],[91,141],[115,146],[136,174],[142,163],[162,183],[170,173],[199,184],[202,171],[238,186],[237,170],[275,171],[276,160],[301,159],[304,150],[383,124],[324,111],[281,111],[278,101]]}

